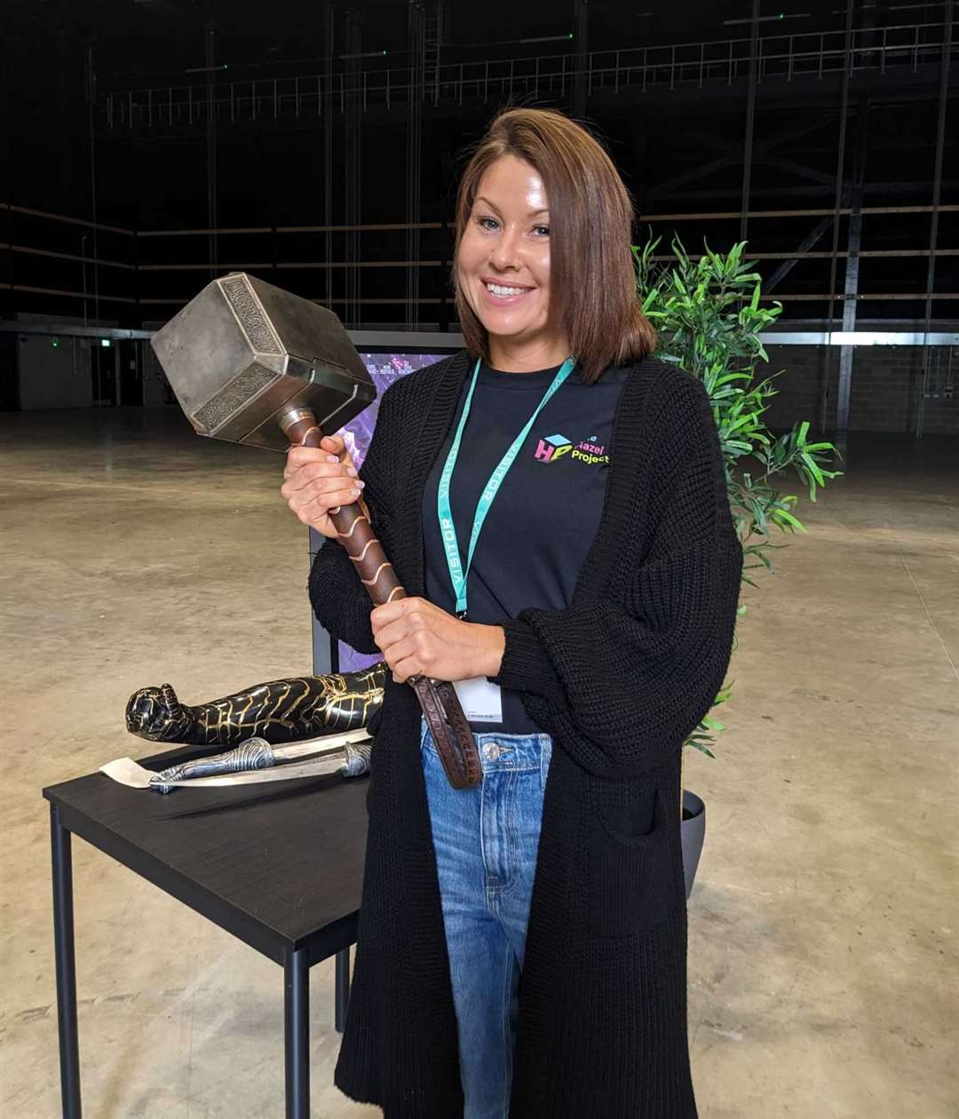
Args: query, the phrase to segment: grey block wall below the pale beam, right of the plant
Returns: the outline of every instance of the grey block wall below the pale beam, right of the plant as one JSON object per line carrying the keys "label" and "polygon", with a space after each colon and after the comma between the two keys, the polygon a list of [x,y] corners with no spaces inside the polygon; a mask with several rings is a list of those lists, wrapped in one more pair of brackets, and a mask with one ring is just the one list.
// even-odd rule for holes
{"label": "grey block wall below the pale beam, right of the plant", "polygon": [[[755,382],[786,370],[772,382],[779,395],[764,414],[773,431],[788,431],[808,420],[810,436],[819,430],[822,384],[828,384],[825,431],[836,426],[839,379],[838,346],[769,346],[769,365],[756,366]],[[959,435],[959,347],[931,347],[929,394],[923,401],[922,432]],[[915,434],[922,391],[921,346],[857,346],[853,350],[849,431]]]}

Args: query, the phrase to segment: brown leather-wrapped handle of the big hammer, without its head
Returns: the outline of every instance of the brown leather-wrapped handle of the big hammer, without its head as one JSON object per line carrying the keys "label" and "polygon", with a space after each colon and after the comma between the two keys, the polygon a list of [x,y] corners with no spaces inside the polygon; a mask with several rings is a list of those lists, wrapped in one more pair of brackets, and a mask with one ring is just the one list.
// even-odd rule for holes
{"label": "brown leather-wrapped handle of the big hammer, without its head", "polygon": [[[323,438],[316,416],[304,410],[281,419],[280,426],[290,442],[300,446],[318,448]],[[356,566],[360,582],[376,605],[405,599],[406,591],[359,502],[340,506],[338,513],[330,514],[330,519],[340,544]],[[479,752],[455,688],[446,680],[425,676],[413,676],[408,683],[420,700],[450,784],[454,789],[478,784],[482,777]]]}

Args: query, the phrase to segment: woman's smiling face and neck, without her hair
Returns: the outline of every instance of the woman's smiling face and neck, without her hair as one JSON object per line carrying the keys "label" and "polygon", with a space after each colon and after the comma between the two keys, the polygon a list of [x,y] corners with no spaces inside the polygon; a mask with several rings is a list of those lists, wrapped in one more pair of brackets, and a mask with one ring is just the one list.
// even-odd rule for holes
{"label": "woman's smiling face and neck, without her hair", "polygon": [[493,360],[504,347],[542,351],[545,360],[565,346],[565,338],[554,339],[547,330],[548,207],[539,172],[515,156],[501,156],[480,179],[457,272],[460,290],[490,336]]}

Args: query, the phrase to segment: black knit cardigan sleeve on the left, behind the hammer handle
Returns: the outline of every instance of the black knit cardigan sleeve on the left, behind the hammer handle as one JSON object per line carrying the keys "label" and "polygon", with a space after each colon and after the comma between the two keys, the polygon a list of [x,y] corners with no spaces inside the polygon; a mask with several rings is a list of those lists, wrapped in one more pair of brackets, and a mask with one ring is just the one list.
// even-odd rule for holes
{"label": "black knit cardigan sleeve on the left, behind the hammer handle", "polygon": [[[366,482],[363,497],[370,514],[370,524],[387,556],[393,501],[389,491],[391,471],[387,463],[389,429],[395,412],[396,382],[383,394],[373,438],[359,468]],[[310,604],[319,623],[333,637],[351,645],[358,652],[379,652],[373,640],[369,614],[373,600],[359,581],[346,548],[336,538],[326,538],[313,556],[308,581]]]}

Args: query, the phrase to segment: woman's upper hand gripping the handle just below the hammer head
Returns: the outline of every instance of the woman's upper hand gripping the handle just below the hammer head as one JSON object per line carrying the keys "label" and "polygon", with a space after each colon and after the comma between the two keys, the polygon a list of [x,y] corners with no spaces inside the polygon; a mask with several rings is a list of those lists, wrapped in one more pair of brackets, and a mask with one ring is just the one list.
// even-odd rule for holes
{"label": "woman's upper hand gripping the handle just below the hammer head", "polygon": [[280,492],[304,525],[335,537],[330,514],[357,500],[363,504],[364,485],[342,435],[323,435],[319,446],[290,448]]}

